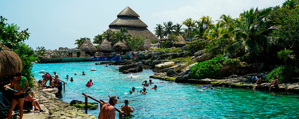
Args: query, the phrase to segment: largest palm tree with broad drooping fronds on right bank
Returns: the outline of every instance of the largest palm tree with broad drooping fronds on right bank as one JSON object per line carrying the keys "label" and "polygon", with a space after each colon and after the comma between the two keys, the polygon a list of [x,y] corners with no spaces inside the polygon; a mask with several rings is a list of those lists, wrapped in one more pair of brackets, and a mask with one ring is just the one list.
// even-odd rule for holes
{"label": "largest palm tree with broad drooping fronds on right bank", "polygon": [[231,19],[234,21],[232,25],[233,38],[232,42],[225,50],[225,54],[241,49],[241,51],[252,51],[259,55],[262,52],[269,52],[272,44],[271,32],[275,27],[271,26],[271,22],[267,17],[258,13],[258,9],[251,8],[244,11],[239,18]]}

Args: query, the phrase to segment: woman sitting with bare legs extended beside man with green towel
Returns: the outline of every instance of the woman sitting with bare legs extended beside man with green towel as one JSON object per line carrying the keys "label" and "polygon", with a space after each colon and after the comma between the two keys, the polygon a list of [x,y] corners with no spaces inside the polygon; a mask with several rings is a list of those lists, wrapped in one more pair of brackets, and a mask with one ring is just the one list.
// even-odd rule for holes
{"label": "woman sitting with bare legs extended beside man with green towel", "polygon": [[[32,105],[34,106],[34,113],[39,113],[39,112],[45,112],[45,110],[42,110],[39,106],[39,102],[34,98],[35,93],[31,92],[33,89],[29,87],[29,89],[25,92],[25,101],[31,101]],[[29,95],[31,93],[31,95]],[[38,107],[39,109],[37,109]]]}

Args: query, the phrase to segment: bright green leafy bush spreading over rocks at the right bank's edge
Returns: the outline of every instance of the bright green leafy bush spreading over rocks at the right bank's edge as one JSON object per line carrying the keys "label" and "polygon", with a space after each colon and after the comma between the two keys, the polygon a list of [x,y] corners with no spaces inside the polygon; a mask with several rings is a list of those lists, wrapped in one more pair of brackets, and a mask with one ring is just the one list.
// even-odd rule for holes
{"label": "bright green leafy bush spreading over rocks at the right bank's edge", "polygon": [[198,64],[192,66],[191,78],[192,79],[220,79],[219,69],[225,65],[240,65],[237,59],[228,59],[223,56],[214,57],[212,60],[206,60],[204,62],[199,62]]}

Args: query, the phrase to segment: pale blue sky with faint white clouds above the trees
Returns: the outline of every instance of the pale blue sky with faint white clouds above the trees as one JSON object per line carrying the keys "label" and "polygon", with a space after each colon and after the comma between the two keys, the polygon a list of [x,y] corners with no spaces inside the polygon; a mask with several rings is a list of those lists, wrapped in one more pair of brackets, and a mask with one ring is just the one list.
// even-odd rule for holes
{"label": "pale blue sky with faint white clouds above the trees", "polygon": [[[156,24],[172,21],[181,24],[187,18],[199,20],[220,15],[239,17],[251,7],[263,9],[282,5],[286,0],[0,0],[0,15],[9,24],[31,33],[25,43],[36,50],[59,47],[76,48],[75,40],[91,38],[109,29],[118,13],[129,6],[154,33]],[[186,28],[183,25],[184,28]]]}

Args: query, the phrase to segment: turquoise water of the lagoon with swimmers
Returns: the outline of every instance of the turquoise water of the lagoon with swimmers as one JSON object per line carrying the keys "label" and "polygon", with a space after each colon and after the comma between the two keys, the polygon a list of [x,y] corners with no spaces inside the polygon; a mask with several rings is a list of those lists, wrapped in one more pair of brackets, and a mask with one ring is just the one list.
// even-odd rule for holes
{"label": "turquoise water of the lagoon with swimmers", "polygon": [[[133,119],[259,119],[259,118],[299,118],[298,94],[280,94],[252,89],[236,89],[228,87],[215,87],[213,90],[200,90],[202,85],[182,84],[152,79],[157,90],[147,89],[147,94],[127,94],[134,86],[141,90],[141,83],[149,80],[153,75],[151,70],[141,73],[123,74],[118,66],[104,67],[94,65],[96,62],[69,62],[53,64],[34,64],[36,80],[42,79],[40,70],[59,74],[65,81],[65,90],[62,90],[60,100],[70,103],[72,100],[85,101],[82,93],[86,93],[98,100],[108,101],[107,95],[119,96],[116,108],[129,100],[134,106]],[[98,71],[90,71],[96,68]],[[80,76],[82,71],[85,76]],[[77,76],[74,76],[77,73]],[[64,79],[66,75],[73,77],[74,81]],[[131,79],[130,76],[133,76]],[[94,85],[86,87],[92,79]],[[95,102],[88,99],[89,102]],[[89,110],[88,114],[98,116],[100,110]],[[118,114],[116,115],[118,118]]]}

